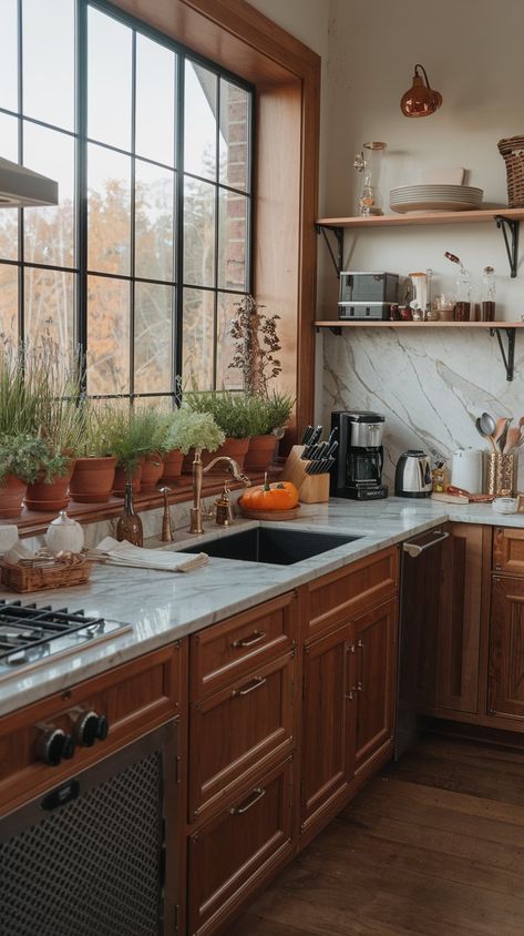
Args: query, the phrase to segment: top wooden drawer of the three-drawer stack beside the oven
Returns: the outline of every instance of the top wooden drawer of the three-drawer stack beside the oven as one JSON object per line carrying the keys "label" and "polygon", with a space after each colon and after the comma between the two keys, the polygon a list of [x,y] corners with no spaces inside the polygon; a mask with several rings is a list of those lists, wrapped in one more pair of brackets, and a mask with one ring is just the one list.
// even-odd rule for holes
{"label": "top wooden drawer of the three-drawer stack beside the oven", "polygon": [[297,640],[297,600],[289,592],[191,638],[191,698],[229,685],[243,672],[285,653]]}

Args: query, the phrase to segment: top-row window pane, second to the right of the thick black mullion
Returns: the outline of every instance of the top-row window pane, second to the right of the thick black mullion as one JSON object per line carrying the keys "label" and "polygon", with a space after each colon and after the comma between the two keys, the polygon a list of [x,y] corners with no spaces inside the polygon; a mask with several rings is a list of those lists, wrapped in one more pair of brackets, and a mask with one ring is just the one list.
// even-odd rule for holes
{"label": "top-row window pane, second to the right of the thick black mullion", "polygon": [[174,165],[174,52],[136,35],[136,153]]}

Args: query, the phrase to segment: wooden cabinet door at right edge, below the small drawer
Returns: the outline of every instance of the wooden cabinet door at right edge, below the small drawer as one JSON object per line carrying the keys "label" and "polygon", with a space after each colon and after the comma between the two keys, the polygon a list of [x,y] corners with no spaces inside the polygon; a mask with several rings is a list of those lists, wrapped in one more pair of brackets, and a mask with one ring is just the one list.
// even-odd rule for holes
{"label": "wooden cabinet door at right edge, below the small drawer", "polygon": [[487,710],[524,719],[524,579],[494,576]]}

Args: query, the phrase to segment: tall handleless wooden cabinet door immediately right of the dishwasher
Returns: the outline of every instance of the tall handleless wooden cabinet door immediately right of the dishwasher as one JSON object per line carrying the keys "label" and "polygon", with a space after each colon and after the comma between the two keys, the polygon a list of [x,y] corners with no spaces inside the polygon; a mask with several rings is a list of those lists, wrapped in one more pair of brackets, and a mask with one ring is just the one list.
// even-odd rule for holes
{"label": "tall handleless wooden cabinet door immediately right of the dishwasher", "polygon": [[484,528],[450,523],[442,549],[436,706],[477,711]]}

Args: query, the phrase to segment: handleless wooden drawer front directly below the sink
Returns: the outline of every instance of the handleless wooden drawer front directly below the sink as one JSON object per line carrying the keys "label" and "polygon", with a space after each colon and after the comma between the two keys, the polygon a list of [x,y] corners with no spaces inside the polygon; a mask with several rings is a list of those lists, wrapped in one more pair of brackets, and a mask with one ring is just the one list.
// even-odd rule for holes
{"label": "handleless wooden drawer front directly below the sink", "polygon": [[395,547],[310,582],[306,639],[391,598],[398,583],[399,551]]}

